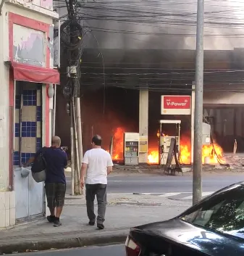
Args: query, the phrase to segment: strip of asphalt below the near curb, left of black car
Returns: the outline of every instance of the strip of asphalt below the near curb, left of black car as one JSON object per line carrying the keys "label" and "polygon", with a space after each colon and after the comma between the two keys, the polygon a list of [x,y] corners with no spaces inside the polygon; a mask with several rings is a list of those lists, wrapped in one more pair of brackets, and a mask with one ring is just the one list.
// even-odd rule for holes
{"label": "strip of asphalt below the near curb, left of black car", "polygon": [[102,247],[83,247],[77,249],[54,250],[49,252],[20,253],[19,256],[125,256],[125,245],[109,245]]}

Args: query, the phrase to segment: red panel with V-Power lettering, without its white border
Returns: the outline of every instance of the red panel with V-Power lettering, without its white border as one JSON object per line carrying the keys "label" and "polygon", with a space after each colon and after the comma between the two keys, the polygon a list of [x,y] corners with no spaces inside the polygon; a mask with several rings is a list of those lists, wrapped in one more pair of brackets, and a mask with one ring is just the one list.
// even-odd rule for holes
{"label": "red panel with V-Power lettering, without its white border", "polygon": [[164,109],[190,109],[190,96],[164,96]]}

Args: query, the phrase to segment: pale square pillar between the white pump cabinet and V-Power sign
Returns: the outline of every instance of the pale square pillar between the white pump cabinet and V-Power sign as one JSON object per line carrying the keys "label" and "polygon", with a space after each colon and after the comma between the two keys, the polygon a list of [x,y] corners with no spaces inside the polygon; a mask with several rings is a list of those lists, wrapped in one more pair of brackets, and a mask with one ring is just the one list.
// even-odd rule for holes
{"label": "pale square pillar between the white pump cabinet and V-Power sign", "polygon": [[[143,136],[148,145],[148,90],[140,90],[139,96],[139,136]],[[148,162],[148,152],[139,151],[139,163]]]}

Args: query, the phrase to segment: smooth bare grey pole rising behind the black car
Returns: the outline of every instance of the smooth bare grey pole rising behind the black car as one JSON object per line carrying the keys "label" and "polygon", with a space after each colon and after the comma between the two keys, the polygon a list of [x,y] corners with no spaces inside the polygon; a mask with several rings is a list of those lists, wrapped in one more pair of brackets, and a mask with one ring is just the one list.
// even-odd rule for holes
{"label": "smooth bare grey pole rising behind the black car", "polygon": [[204,0],[198,0],[195,57],[193,205],[202,197]]}

